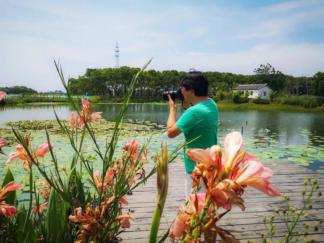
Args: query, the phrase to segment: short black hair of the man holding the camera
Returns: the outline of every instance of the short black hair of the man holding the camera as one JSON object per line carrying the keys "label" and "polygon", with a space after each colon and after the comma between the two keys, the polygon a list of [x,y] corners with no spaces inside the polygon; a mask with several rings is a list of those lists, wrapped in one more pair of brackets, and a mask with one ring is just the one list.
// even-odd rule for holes
{"label": "short black hair of the man holding the camera", "polygon": [[208,80],[204,72],[191,68],[180,79],[181,86],[186,90],[193,90],[196,96],[208,96]]}

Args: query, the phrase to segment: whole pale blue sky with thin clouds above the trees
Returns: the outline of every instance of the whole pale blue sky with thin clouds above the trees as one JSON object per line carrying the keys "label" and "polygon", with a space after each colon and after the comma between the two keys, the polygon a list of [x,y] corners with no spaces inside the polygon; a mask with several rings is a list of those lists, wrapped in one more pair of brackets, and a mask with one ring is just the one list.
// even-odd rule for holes
{"label": "whole pale blue sky with thin clouds above the trees", "polygon": [[0,86],[62,89],[66,76],[120,65],[294,76],[324,71],[324,1],[1,1]]}

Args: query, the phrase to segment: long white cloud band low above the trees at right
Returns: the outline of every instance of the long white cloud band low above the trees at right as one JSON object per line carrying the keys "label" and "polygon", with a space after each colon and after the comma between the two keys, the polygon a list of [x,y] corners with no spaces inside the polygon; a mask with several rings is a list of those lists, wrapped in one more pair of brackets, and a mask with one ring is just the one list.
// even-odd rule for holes
{"label": "long white cloud band low above the trees at right", "polygon": [[[235,53],[176,53],[169,62],[163,57],[154,60],[152,67],[162,66],[178,70],[195,68],[201,71],[232,72],[237,74],[253,74],[254,68],[260,64],[270,63],[276,70],[295,76],[313,76],[324,71],[324,44],[295,44],[254,46],[245,51]],[[158,62],[158,63],[156,63]]]}

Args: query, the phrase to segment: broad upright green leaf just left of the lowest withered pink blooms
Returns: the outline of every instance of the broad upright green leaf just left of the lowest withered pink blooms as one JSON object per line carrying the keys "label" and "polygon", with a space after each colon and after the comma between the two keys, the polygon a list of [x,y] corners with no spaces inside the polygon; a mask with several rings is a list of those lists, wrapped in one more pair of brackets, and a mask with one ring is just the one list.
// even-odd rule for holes
{"label": "broad upright green leaf just left of the lowest withered pink blooms", "polygon": [[48,199],[47,206],[47,234],[49,238],[52,238],[52,242],[56,242],[56,238],[59,231],[58,222],[58,210],[57,210],[57,197],[60,197],[58,193],[52,188],[50,192],[50,197]]}

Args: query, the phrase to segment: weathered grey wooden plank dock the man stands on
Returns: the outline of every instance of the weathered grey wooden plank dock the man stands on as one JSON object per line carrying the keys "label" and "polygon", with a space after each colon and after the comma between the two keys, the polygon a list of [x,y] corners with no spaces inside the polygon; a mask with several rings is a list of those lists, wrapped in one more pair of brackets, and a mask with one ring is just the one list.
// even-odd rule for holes
{"label": "weathered grey wooden plank dock the man stands on", "polygon": [[[324,175],[311,171],[305,167],[298,166],[287,161],[265,162],[265,166],[273,169],[272,184],[282,193],[290,196],[290,204],[297,210],[301,209],[303,197],[303,182],[309,176],[311,179],[316,178],[323,192]],[[145,170],[152,170],[154,164],[146,164]],[[179,210],[179,205],[185,203],[185,169],[184,163],[169,164],[169,188],[167,201],[162,214],[159,234],[163,234],[171,225],[174,217],[177,215],[175,210]],[[282,209],[286,206],[284,198],[272,198],[258,190],[248,187],[248,194],[244,194],[245,211],[237,206],[233,206],[222,220],[217,224],[219,227],[226,229],[235,229],[241,231],[235,236],[241,242],[247,242],[249,239],[260,242],[260,233],[267,235],[262,217],[269,219],[270,215],[275,213],[275,208]],[[312,223],[324,218],[324,196],[320,197],[313,203],[313,209],[309,211],[307,218],[303,217],[303,221]],[[153,175],[148,182],[135,189],[133,195],[128,196],[129,208],[135,210],[132,215],[135,221],[132,222],[131,228],[121,233],[123,242],[145,243],[148,242],[151,220],[156,207],[156,174]],[[274,222],[277,222],[275,220]],[[308,238],[316,239],[316,242],[324,242],[324,223],[319,226],[318,232],[310,231]],[[298,227],[297,227],[298,228]],[[276,239],[275,242],[282,237],[285,225],[282,221],[275,224]],[[299,226],[300,229],[300,226]]]}

